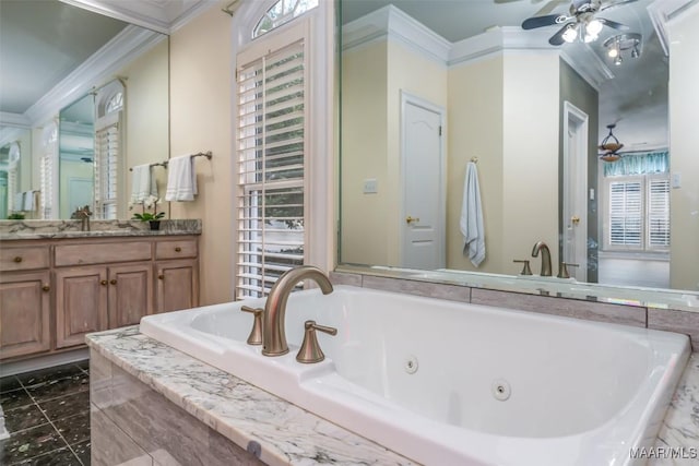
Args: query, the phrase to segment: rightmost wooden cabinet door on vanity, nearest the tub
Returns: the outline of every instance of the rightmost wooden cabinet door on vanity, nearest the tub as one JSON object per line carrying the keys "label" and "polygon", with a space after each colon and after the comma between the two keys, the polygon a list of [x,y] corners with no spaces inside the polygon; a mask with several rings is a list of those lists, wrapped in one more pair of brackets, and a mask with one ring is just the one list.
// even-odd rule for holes
{"label": "rightmost wooden cabinet door on vanity, nearest the tub", "polygon": [[156,312],[199,306],[199,261],[161,261],[155,266]]}

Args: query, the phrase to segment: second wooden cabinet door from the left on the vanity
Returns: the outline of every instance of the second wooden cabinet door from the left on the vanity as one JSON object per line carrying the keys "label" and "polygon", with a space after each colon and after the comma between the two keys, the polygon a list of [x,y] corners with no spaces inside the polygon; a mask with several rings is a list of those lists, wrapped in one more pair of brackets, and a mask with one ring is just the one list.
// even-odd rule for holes
{"label": "second wooden cabinet door from the left on the vanity", "polygon": [[107,268],[56,271],[56,347],[82,345],[85,334],[107,330]]}

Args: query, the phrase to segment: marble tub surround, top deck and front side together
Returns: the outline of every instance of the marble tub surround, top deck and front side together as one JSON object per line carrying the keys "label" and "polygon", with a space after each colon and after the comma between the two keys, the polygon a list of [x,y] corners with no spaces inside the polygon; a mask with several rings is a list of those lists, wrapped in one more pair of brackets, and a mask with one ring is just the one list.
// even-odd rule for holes
{"label": "marble tub surround, top deck and front side together", "polygon": [[[250,456],[240,458],[240,450],[252,452],[262,463],[271,465],[417,464],[154,340],[137,326],[93,334],[87,342],[93,465],[129,461],[133,462],[129,465],[157,465],[158,457],[171,457],[180,464],[205,464],[186,463],[191,454],[181,452],[177,445],[181,435],[197,440],[188,441],[189,447],[196,449],[196,443],[201,443],[204,450],[225,452],[220,458],[237,458],[240,465],[256,464]],[[133,409],[147,410],[149,406],[154,411],[164,410],[166,419],[178,417],[169,423],[158,420],[157,413],[152,411],[130,417]],[[656,451],[690,453],[691,449],[699,449],[697,410],[699,355],[694,354],[660,429]],[[155,430],[155,426],[164,430]],[[146,431],[158,432],[157,439],[144,434]],[[175,445],[163,444],[170,435],[175,435],[170,441]],[[236,463],[230,459],[226,464]],[[652,457],[648,464],[688,466],[696,461]]]}

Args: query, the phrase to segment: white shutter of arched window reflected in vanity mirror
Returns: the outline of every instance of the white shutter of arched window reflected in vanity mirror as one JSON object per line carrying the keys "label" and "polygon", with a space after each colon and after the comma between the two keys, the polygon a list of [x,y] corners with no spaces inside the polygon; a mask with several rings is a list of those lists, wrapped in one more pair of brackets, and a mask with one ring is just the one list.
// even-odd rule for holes
{"label": "white shutter of arched window reflected in vanity mirror", "polygon": [[95,132],[95,213],[97,218],[117,218],[117,170],[119,118],[105,117]]}

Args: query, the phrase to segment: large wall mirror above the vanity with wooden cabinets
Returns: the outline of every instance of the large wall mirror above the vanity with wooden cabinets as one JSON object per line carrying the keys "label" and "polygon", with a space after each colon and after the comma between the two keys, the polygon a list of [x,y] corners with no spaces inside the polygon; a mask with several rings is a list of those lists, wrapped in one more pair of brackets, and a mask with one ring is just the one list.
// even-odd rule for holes
{"label": "large wall mirror above the vanity with wooden cabinets", "polygon": [[[129,169],[169,156],[168,36],[69,3],[2,7],[0,146],[19,143],[22,162],[9,192],[0,151],[1,218],[70,218],[84,205],[130,218]],[[154,175],[163,191],[165,170]],[[35,202],[17,211],[17,194]]]}

